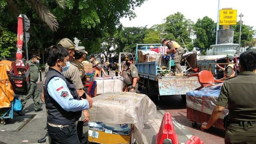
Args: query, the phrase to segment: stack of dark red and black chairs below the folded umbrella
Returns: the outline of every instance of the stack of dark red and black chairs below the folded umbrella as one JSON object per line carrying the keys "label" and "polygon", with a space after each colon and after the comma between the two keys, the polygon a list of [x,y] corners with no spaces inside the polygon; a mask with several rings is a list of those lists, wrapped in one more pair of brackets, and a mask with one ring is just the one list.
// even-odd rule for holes
{"label": "stack of dark red and black chairs below the folded umbrella", "polygon": [[11,85],[13,86],[15,94],[28,94],[28,90],[30,88],[30,72],[28,64],[26,67],[22,67],[16,66],[15,63],[12,62],[12,68],[10,71],[6,71],[6,73]]}

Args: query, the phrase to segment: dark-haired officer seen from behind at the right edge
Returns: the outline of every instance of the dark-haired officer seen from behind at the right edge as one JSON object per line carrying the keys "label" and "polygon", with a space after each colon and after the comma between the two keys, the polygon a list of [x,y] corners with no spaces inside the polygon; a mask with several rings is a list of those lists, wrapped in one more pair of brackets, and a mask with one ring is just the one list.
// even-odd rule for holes
{"label": "dark-haired officer seen from behind at the right edge", "polygon": [[209,129],[228,105],[229,124],[225,144],[256,143],[256,52],[246,51],[240,55],[239,76],[226,80],[221,88],[216,107],[207,124]]}

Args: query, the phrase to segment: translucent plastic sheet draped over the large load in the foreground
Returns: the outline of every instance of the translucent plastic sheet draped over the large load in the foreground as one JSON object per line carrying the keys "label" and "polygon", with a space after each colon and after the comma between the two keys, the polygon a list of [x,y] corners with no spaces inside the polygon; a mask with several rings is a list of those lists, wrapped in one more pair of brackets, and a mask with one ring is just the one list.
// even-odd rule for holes
{"label": "translucent plastic sheet draped over the large load in the foreground", "polygon": [[146,119],[153,119],[156,114],[156,106],[151,99],[133,92],[108,92],[92,99],[90,122],[134,124],[135,139],[139,144],[146,144],[142,141],[142,129]]}

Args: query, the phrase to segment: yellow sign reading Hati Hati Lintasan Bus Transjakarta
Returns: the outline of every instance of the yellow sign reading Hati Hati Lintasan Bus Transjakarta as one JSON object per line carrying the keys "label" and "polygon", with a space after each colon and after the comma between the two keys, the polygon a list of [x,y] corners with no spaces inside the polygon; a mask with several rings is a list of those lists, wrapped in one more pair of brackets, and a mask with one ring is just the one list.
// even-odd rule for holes
{"label": "yellow sign reading Hati Hati Lintasan Bus Transjakarta", "polygon": [[237,9],[219,10],[219,25],[236,25]]}

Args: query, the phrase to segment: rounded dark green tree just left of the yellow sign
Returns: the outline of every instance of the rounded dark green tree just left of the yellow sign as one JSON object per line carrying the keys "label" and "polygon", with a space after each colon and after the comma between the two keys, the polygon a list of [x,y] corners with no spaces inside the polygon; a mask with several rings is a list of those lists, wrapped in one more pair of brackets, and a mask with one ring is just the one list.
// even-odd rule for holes
{"label": "rounded dark green tree just left of the yellow sign", "polygon": [[193,27],[197,38],[194,40],[194,47],[201,51],[210,49],[210,45],[215,44],[216,24],[209,17],[198,19]]}

